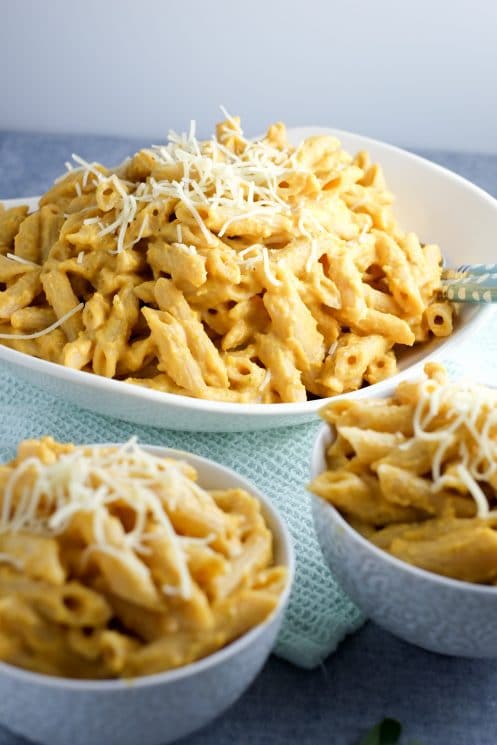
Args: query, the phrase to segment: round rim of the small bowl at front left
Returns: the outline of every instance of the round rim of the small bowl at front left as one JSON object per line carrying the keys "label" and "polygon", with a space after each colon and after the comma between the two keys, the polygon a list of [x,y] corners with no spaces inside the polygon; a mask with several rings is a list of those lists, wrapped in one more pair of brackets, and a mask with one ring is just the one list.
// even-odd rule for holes
{"label": "round rim of the small bowl at front left", "polygon": [[[96,443],[94,447],[108,447],[112,445],[122,445],[124,443]],[[243,651],[249,647],[265,630],[268,624],[271,623],[274,616],[278,611],[284,609],[290,592],[293,586],[293,580],[295,576],[295,551],[293,548],[293,541],[290,536],[283,517],[280,515],[279,510],[274,506],[269,497],[263,494],[254,484],[251,483],[245,476],[237,473],[237,471],[228,466],[223,466],[210,458],[204,458],[201,455],[190,453],[187,450],[177,450],[176,448],[167,448],[159,445],[148,445],[146,443],[140,443],[140,446],[144,450],[148,450],[156,455],[164,455],[165,457],[172,458],[190,458],[203,465],[210,467],[214,466],[221,475],[227,475],[235,477],[240,481],[244,482],[244,488],[247,489],[251,494],[261,502],[264,510],[270,515],[271,521],[277,527],[278,541],[281,543],[281,547],[286,554],[287,568],[287,581],[283,592],[278,598],[278,604],[273,612],[264,619],[262,623],[257,624],[252,629],[247,631],[242,636],[238,637],[234,641],[227,644],[225,647],[213,652],[212,654],[202,657],[196,662],[191,662],[188,665],[174,668],[172,670],[165,670],[161,673],[153,673],[152,675],[140,675],[135,678],[113,678],[107,680],[91,680],[91,679],[79,679],[79,678],[63,678],[58,675],[45,675],[43,673],[33,672],[31,670],[25,670],[15,665],[10,665],[7,662],[0,661],[0,676],[6,675],[14,679],[18,679],[22,682],[30,683],[32,685],[42,685],[49,688],[66,688],[71,691],[101,691],[102,693],[117,693],[124,690],[133,690],[134,688],[147,688],[154,685],[163,685],[169,683],[175,683],[184,678],[194,676],[197,673],[201,673],[209,667],[213,667],[218,664],[222,664],[228,658],[233,657],[238,652]],[[273,531],[272,531],[273,532]]]}

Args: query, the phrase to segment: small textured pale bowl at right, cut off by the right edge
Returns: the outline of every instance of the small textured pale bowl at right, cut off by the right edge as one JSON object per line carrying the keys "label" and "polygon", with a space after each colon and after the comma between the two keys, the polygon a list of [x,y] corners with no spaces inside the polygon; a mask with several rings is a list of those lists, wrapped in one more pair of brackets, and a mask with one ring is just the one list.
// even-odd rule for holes
{"label": "small textured pale bowl at right, cut off by the right edge", "polygon": [[[318,430],[312,478],[326,470],[332,428]],[[497,657],[497,587],[442,577],[406,564],[357,533],[315,494],[314,525],[325,561],[351,600],[401,639],[440,654]]]}

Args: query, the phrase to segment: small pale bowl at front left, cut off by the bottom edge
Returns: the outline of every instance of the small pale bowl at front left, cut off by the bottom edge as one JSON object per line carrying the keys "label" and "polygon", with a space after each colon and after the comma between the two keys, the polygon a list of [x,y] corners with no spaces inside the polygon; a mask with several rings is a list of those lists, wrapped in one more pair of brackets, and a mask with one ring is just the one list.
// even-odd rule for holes
{"label": "small pale bowl at front left, cut off by the bottom edge", "polygon": [[165,745],[199,729],[250,685],[274,645],[294,575],[292,541],[270,500],[228,468],[180,450],[143,446],[194,466],[207,489],[243,488],[262,504],[275,561],[288,581],[275,612],[191,665],[129,680],[69,680],[0,663],[0,723],[45,745]]}

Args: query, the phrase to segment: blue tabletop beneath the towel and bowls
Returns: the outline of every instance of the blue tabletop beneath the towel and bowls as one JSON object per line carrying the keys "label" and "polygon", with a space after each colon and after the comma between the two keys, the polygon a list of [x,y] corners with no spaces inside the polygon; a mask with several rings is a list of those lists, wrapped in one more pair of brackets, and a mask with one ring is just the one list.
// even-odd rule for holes
{"label": "blue tabletop beneath the towel and bowls", "polygon": [[[108,137],[0,131],[0,197],[42,193],[62,172],[72,152],[112,164],[146,144]],[[420,154],[497,196],[497,155]],[[391,716],[403,723],[405,743],[496,745],[496,691],[497,660],[431,654],[368,623],[317,670],[300,670],[271,658],[223,717],[182,742],[356,745],[366,729]],[[0,728],[0,745],[23,742]]]}

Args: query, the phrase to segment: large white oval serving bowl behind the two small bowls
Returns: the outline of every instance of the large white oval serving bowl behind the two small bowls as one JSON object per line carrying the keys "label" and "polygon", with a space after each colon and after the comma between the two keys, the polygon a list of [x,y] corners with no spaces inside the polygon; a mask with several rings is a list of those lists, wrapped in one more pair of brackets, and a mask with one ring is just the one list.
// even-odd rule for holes
{"label": "large white oval serving bowl behind the two small bowls", "polygon": [[[423,242],[440,244],[448,266],[468,262],[493,262],[497,235],[497,201],[486,192],[454,173],[405,150],[361,135],[323,127],[289,130],[298,143],[312,134],[337,136],[346,150],[368,150],[385,172],[387,184],[396,197],[396,215],[401,225],[413,230]],[[5,205],[29,203],[37,198],[7,200]],[[493,313],[489,306],[467,306],[456,330],[447,339],[407,349],[399,361],[399,373],[388,380],[352,393],[347,398],[391,391],[409,375],[413,366],[445,355],[474,335],[479,324]],[[19,378],[57,396],[100,414],[137,424],[197,432],[239,432],[284,427],[314,419],[328,399],[288,404],[236,404],[202,401],[187,396],[162,393],[118,380],[71,370],[38,360],[0,345],[3,361]]]}

